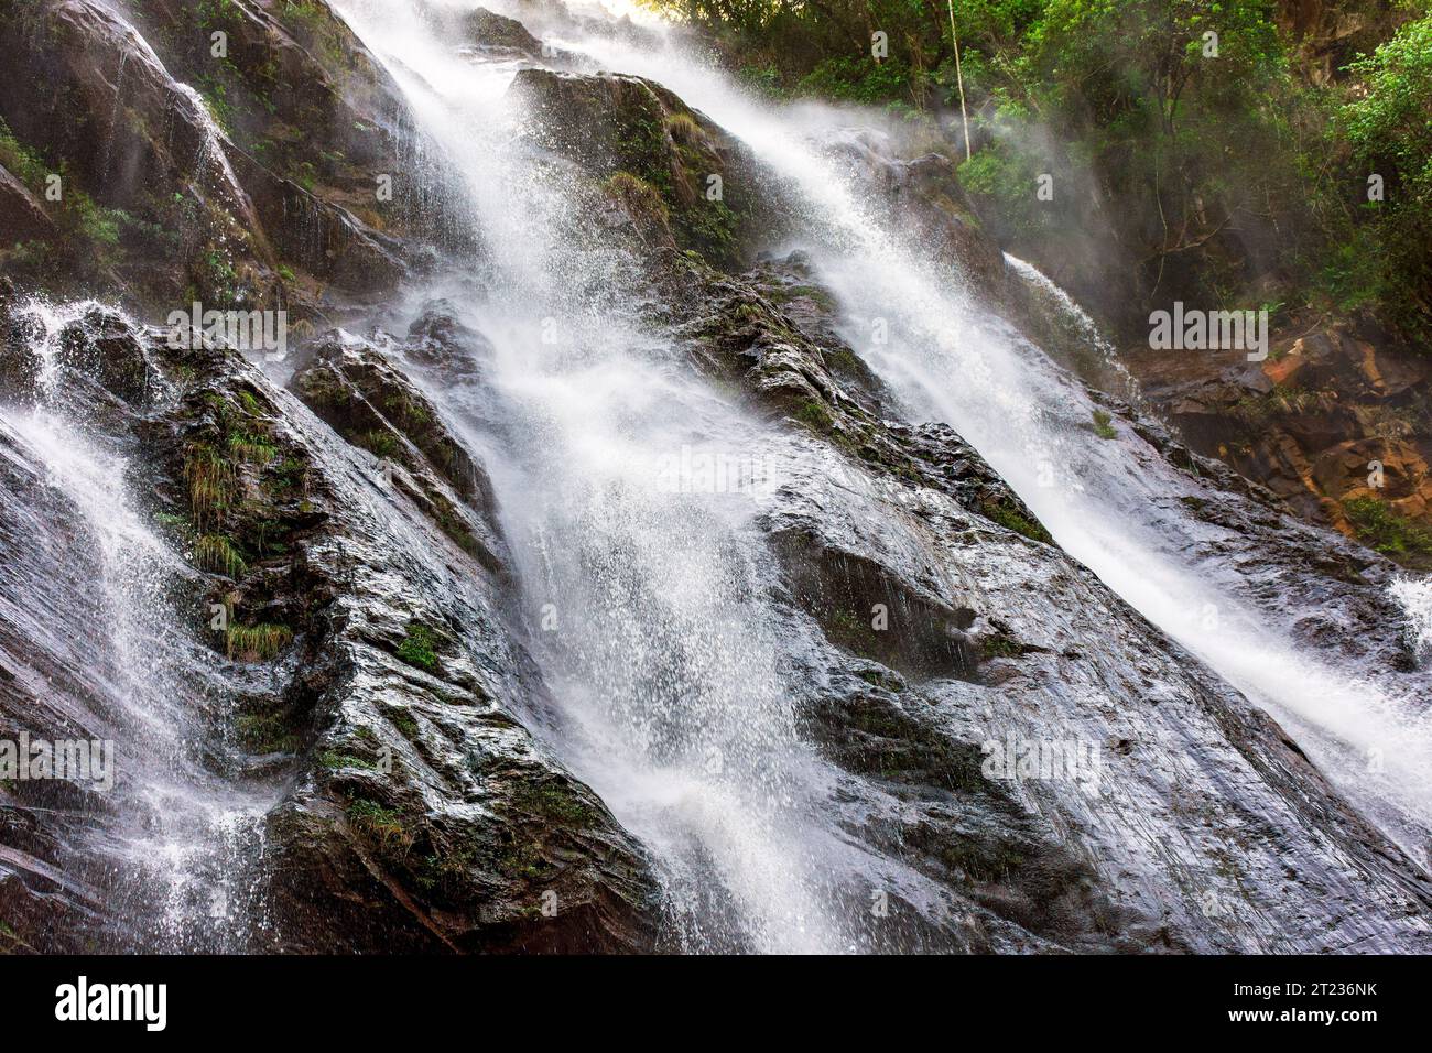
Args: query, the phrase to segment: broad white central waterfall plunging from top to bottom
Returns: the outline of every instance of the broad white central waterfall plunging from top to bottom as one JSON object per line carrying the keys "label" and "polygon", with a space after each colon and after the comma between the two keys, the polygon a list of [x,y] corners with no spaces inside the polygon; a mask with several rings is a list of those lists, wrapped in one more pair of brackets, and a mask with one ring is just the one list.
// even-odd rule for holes
{"label": "broad white central waterfall plunging from top to bottom", "polygon": [[[796,734],[778,663],[802,630],[766,600],[758,494],[670,471],[683,447],[770,451],[779,471],[796,440],[632,325],[630,261],[573,244],[560,169],[518,142],[513,66],[458,57],[390,3],[338,7],[445,153],[421,178],[461,181],[490,248],[485,297],[428,292],[451,294],[493,358],[474,390],[431,394],[493,471],[563,756],[653,850],[683,947],[856,947],[835,901],[862,858],[831,832],[833,775]],[[497,430],[484,400],[501,405]]]}

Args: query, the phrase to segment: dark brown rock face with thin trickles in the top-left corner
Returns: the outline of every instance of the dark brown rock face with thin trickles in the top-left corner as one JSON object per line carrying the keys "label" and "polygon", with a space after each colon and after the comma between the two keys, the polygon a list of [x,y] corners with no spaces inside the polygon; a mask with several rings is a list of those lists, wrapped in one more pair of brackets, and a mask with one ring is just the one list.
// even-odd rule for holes
{"label": "dark brown rock face with thin trickles in the top-left corner", "polygon": [[64,172],[63,196],[43,202],[60,229],[40,236],[70,262],[16,256],[32,278],[93,282],[103,264],[153,309],[312,311],[328,287],[364,294],[404,274],[382,228],[402,226],[415,188],[398,179],[384,218],[377,179],[401,170],[405,110],[325,3],[9,6],[0,43],[23,66],[0,117],[26,179]]}

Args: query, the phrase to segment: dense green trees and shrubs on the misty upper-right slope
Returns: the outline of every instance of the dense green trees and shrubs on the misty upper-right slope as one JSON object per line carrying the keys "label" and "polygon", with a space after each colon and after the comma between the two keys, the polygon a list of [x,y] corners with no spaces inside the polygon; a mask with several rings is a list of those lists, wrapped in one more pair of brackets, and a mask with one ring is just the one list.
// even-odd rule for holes
{"label": "dense green trees and shrubs on the misty upper-right slope", "polygon": [[1428,0],[653,3],[760,90],[886,107],[964,160],[962,79],[984,221],[1130,331],[1184,299],[1432,335]]}

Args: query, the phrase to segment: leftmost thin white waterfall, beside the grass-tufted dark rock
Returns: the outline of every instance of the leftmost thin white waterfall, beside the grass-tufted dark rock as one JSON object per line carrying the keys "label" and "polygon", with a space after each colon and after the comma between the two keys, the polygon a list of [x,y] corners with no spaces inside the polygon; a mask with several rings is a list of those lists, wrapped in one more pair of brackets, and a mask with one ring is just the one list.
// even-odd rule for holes
{"label": "leftmost thin white waterfall, beside the grass-tufted dark rock", "polygon": [[[236,789],[202,764],[205,754],[222,751],[206,745],[203,722],[200,670],[212,658],[175,606],[188,566],[136,510],[125,457],[86,436],[60,393],[63,337],[73,341],[96,309],[93,302],[60,311],[36,302],[17,312],[33,332],[40,398],[29,410],[0,410],[0,444],[40,473],[69,517],[43,529],[72,539],[80,554],[66,563],[84,574],[90,600],[72,603],[60,593],[53,567],[33,546],[17,547],[0,580],[14,579],[6,580],[9,595],[54,592],[53,603],[23,615],[21,635],[56,655],[80,646],[83,653],[62,665],[87,670],[90,702],[87,711],[64,712],[66,723],[86,739],[113,744],[115,784],[103,791],[113,794],[113,808],[72,847],[82,857],[76,870],[110,903],[126,905],[119,914],[129,933],[96,938],[116,947],[137,938],[169,951],[243,950],[262,921],[252,890],[272,795]],[[84,862],[90,855],[102,862]]]}

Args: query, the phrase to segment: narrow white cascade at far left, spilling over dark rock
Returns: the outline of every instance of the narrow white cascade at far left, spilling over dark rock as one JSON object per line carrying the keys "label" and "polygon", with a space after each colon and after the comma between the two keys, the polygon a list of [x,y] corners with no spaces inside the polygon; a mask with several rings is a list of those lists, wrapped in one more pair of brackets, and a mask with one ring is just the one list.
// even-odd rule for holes
{"label": "narrow white cascade at far left, spilling over dark rock", "polygon": [[[117,898],[132,904],[127,920],[149,928],[156,950],[242,950],[256,923],[236,905],[251,898],[252,871],[242,860],[252,858],[271,798],[232,789],[196,764],[206,729],[182,663],[198,645],[185,629],[192,619],[169,599],[188,569],[135,509],[125,460],[96,446],[56,397],[59,334],[92,307],[33,302],[17,311],[37,328],[32,351],[40,360],[42,395],[32,410],[0,410],[0,431],[29,464],[43,467],[46,484],[79,516],[83,533],[73,543],[97,566],[95,612],[59,613],[93,616],[99,629],[57,630],[100,642],[86,660],[100,670],[96,682],[105,693],[96,718],[113,735],[116,774],[115,787],[99,792],[125,804],[117,808],[122,822],[97,824],[96,837],[109,842],[105,855],[123,861],[115,878]],[[67,649],[67,640],[56,643]]]}

